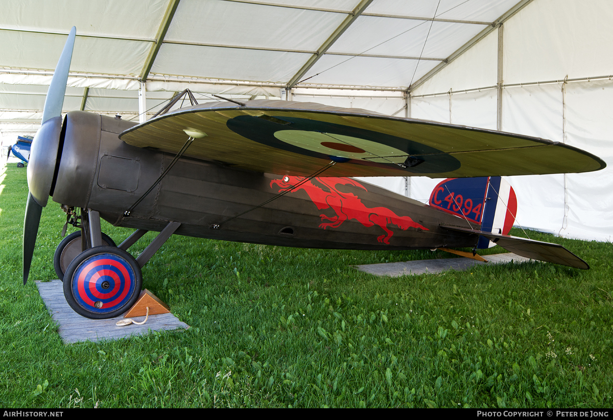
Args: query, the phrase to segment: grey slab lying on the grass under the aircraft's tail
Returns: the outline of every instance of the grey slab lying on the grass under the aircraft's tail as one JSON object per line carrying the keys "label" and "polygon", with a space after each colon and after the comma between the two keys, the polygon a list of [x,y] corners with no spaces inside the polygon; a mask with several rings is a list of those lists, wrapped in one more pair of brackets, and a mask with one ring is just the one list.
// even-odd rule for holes
{"label": "grey slab lying on the grass under the aircraft's tail", "polygon": [[[530,258],[520,257],[514,253],[499,253],[484,255],[487,264],[522,263]],[[413,276],[416,274],[438,273],[448,270],[465,271],[475,265],[486,264],[472,258],[438,258],[436,260],[405,261],[403,263],[364,264],[355,266],[359,271],[375,274],[375,276]]]}

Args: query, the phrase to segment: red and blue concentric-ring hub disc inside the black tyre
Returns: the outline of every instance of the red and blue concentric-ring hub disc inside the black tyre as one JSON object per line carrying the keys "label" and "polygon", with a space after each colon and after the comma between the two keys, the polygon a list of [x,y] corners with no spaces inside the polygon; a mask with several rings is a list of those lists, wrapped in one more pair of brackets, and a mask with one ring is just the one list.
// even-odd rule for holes
{"label": "red and blue concentric-ring hub disc inside the black tyre", "polygon": [[86,258],[73,279],[72,293],[77,304],[94,313],[109,313],[124,306],[136,287],[134,269],[112,253]]}

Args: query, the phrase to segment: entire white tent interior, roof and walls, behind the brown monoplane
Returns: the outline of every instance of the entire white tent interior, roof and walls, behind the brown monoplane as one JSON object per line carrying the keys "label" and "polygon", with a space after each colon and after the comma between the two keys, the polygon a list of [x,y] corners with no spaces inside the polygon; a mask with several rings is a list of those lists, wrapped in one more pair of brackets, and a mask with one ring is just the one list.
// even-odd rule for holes
{"label": "entire white tent interior, roof and walls, behind the brown monoplane", "polygon": [[[606,0],[3,2],[0,134],[36,131],[77,26],[64,111],[150,117],[186,88],[282,97],[536,135],[611,166],[612,18]],[[510,179],[517,222],[611,240],[609,171]],[[436,182],[381,180],[419,200]]]}

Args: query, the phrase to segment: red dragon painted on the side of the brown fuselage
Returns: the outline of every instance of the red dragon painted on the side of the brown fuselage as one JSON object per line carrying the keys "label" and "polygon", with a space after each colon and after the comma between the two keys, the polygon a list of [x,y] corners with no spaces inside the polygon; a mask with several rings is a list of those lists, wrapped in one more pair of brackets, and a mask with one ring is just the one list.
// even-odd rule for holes
{"label": "red dragon painted on the side of the brown fuselage", "polygon": [[[279,187],[279,192],[285,192],[291,190],[290,192],[296,192],[298,190],[305,190],[308,196],[311,198],[311,201],[317,206],[319,210],[332,208],[336,213],[335,216],[328,217],[325,214],[321,214],[321,221],[329,220],[330,223],[321,223],[319,225],[320,228],[326,229],[330,228],[338,228],[340,225],[345,222],[345,220],[356,219],[358,222],[362,223],[367,228],[370,228],[374,225],[381,227],[386,234],[382,234],[377,238],[377,241],[384,242],[384,244],[389,245],[389,238],[394,235],[394,232],[387,228],[389,223],[396,225],[402,230],[407,230],[408,228],[416,228],[422,230],[428,230],[423,227],[419,223],[413,222],[413,219],[408,216],[398,216],[393,211],[385,207],[375,207],[375,208],[367,208],[364,204],[362,204],[362,200],[352,193],[344,193],[340,192],[336,186],[337,185],[349,185],[361,188],[365,191],[364,186],[359,182],[355,181],[351,178],[314,178],[324,187],[326,187],[329,191],[322,189],[321,187],[313,184],[313,179],[309,179],[306,182],[305,177],[303,176],[285,176],[283,179],[273,179],[270,181],[270,187],[273,187],[273,184],[276,184]],[[286,181],[287,180],[287,181]],[[296,184],[300,184],[300,186],[294,187]]]}

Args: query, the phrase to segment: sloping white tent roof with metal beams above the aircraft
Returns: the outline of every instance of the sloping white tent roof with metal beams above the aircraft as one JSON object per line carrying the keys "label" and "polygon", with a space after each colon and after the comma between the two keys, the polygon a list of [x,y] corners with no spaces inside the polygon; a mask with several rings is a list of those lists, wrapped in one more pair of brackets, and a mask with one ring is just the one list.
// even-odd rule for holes
{"label": "sloping white tent roof with metal beams above the aircraft", "polygon": [[366,91],[392,96],[402,108],[411,81],[526,2],[5,2],[0,108],[28,114],[42,109],[45,89],[29,85],[48,85],[72,26],[77,26],[77,40],[69,86],[75,89],[67,93],[66,111],[137,113],[140,81],[147,82],[147,109],[153,110],[159,99],[185,88],[268,97],[280,97],[288,88],[303,93],[333,88],[343,97]]}

